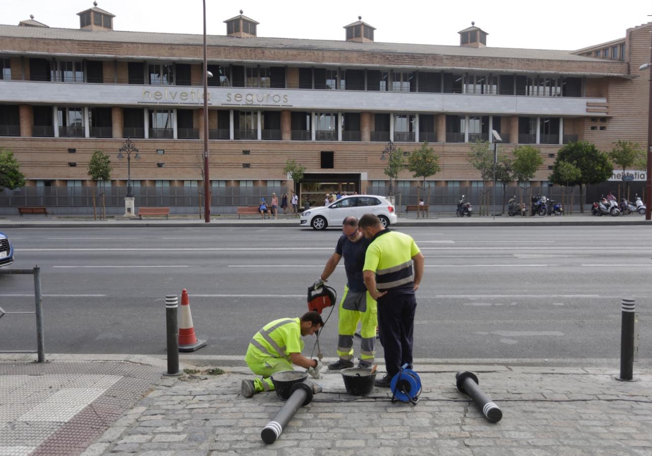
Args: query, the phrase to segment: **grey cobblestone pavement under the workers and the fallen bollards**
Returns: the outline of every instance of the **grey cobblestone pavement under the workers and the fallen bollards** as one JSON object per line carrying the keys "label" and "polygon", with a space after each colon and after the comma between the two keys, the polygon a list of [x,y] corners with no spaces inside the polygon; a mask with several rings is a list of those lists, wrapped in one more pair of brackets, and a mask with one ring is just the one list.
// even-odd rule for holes
{"label": "grey cobblestone pavement under the workers and the fallen bollards", "polygon": [[[387,389],[346,393],[342,376],[300,408],[273,444],[261,430],[282,402],[274,392],[246,399],[245,367],[171,380],[125,412],[83,453],[122,455],[652,455],[652,371],[636,382],[616,370],[503,365],[417,365],[416,406],[391,403]],[[455,387],[477,373],[503,411],[492,424]]]}

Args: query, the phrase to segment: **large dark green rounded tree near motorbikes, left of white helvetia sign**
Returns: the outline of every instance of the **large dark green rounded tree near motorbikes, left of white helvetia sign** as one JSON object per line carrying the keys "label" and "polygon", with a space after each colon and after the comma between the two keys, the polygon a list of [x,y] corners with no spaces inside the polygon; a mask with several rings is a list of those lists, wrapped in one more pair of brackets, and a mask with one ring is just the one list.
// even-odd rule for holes
{"label": "large dark green rounded tree near motorbikes, left of white helvetia sign", "polygon": [[605,152],[600,152],[595,144],[587,141],[568,143],[559,149],[550,175],[553,182],[561,182],[558,176],[558,164],[561,162],[570,163],[580,170],[580,178],[575,182],[569,181],[569,184],[580,186],[580,212],[584,213],[583,186],[606,182],[614,172],[614,165]]}

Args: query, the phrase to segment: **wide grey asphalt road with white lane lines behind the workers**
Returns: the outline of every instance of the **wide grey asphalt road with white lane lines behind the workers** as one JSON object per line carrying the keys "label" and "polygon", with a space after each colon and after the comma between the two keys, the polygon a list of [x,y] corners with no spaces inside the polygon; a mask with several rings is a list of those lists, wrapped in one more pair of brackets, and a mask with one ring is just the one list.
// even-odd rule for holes
{"label": "wide grey asphalt road with white lane lines behind the workers", "polygon": [[[16,249],[11,267],[42,268],[46,352],[164,354],[164,296],[185,288],[209,342],[197,353],[225,359],[243,356],[263,324],[306,311],[306,289],[339,236],[288,227],[3,231]],[[649,227],[402,231],[426,257],[415,357],[619,358],[620,300],[633,296],[640,359],[652,361]],[[345,281],[340,267],[329,285],[341,293]],[[30,311],[33,302],[30,276],[0,275],[0,307]],[[320,338],[325,356],[336,356],[336,317]],[[33,350],[35,339],[33,315],[0,319],[0,350]]]}

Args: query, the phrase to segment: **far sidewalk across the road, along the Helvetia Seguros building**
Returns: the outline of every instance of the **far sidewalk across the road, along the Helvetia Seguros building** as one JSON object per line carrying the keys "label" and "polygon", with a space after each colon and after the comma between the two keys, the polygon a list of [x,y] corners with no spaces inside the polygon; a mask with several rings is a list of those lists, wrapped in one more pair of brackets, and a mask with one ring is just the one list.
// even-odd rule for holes
{"label": "far sidewalk across the road, along the Helvetia Seguros building", "polygon": [[[652,225],[642,215],[627,215],[617,217],[596,217],[588,214],[572,216],[473,216],[458,218],[451,214],[431,214],[429,218],[406,218],[399,216],[396,227],[509,227],[509,226],[615,226],[615,225]],[[197,216],[170,216],[163,218],[147,218],[143,220],[109,218],[108,220],[93,220],[82,216],[0,216],[0,229],[5,228],[125,228],[125,227],[299,227],[299,216],[282,216],[278,220],[261,220],[260,218],[243,218],[238,220],[233,216],[212,216],[210,223],[199,220]],[[307,229],[307,228],[306,228]]]}

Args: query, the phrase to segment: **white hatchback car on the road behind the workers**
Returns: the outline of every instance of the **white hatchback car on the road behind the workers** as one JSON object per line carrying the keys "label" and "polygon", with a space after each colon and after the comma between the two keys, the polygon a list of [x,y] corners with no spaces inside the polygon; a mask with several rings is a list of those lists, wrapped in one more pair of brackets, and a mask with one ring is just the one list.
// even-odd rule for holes
{"label": "white hatchback car on the road behind the workers", "polygon": [[348,195],[327,206],[304,210],[299,225],[312,229],[326,229],[329,226],[341,228],[348,216],[361,218],[364,214],[374,214],[385,227],[393,225],[397,220],[394,205],[384,196]]}

